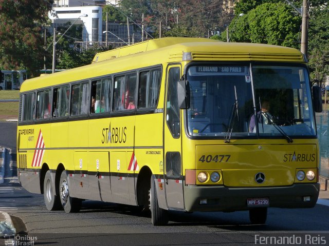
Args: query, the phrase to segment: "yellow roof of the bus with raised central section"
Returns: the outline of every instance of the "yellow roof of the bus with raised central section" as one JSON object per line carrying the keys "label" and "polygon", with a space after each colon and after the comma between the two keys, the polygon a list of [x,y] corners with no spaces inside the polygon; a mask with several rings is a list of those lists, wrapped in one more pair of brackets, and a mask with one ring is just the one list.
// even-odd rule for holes
{"label": "yellow roof of the bus with raised central section", "polygon": [[300,51],[283,46],[225,43],[208,38],[165,37],[98,53],[90,65],[27,79],[22,84],[21,91],[179,62],[183,60],[183,53],[191,53],[193,61],[258,60],[305,63]]}

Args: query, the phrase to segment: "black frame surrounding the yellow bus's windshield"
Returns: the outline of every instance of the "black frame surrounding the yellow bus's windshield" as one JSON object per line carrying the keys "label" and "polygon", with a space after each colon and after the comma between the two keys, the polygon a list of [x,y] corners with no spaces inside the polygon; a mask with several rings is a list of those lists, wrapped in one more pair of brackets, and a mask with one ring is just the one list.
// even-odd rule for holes
{"label": "black frame surrounding the yellow bus's windshield", "polygon": [[[296,68],[301,68],[303,69],[302,71],[304,71],[304,75],[305,75],[305,87],[308,88],[307,89],[307,95],[309,95],[310,98],[307,98],[307,101],[309,102],[309,104],[311,105],[312,110],[309,110],[309,120],[312,121],[312,126],[314,129],[312,129],[313,132],[310,135],[293,135],[291,136],[294,139],[316,139],[317,138],[317,129],[316,129],[316,120],[315,120],[315,112],[313,109],[313,100],[312,100],[312,84],[310,82],[309,79],[309,70],[308,67],[305,63],[283,63],[283,62],[276,62],[276,61],[192,61],[191,63],[188,63],[185,67],[184,67],[184,76],[188,79],[188,71],[189,68],[192,66],[248,66],[248,68],[250,69],[249,73],[251,76],[251,85],[252,85],[252,100],[253,100],[253,107],[255,108],[255,90],[254,90],[254,84],[252,81],[252,67],[253,66],[273,66],[273,67],[296,67]],[[184,119],[184,131],[185,134],[188,138],[191,139],[221,139],[221,140],[225,140],[225,136],[226,134],[223,135],[217,135],[217,136],[212,136],[212,135],[192,135],[190,134],[190,131],[188,129],[188,110],[185,109],[183,110],[183,117],[182,120]],[[258,129],[256,134],[245,134],[243,136],[240,135],[232,135],[230,136],[230,139],[285,139],[286,136],[285,134],[276,134],[275,136],[271,136],[271,135],[263,135],[260,134]]]}

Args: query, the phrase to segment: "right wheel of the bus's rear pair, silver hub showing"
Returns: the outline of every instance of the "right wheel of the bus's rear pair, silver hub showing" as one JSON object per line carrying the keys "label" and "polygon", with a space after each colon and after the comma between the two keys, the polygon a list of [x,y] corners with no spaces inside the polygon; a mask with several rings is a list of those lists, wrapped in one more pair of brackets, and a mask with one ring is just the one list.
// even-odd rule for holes
{"label": "right wheel of the bus's rear pair, silver hub showing", "polygon": [[81,199],[69,195],[66,171],[63,170],[60,179],[60,201],[66,213],[77,213],[81,208]]}

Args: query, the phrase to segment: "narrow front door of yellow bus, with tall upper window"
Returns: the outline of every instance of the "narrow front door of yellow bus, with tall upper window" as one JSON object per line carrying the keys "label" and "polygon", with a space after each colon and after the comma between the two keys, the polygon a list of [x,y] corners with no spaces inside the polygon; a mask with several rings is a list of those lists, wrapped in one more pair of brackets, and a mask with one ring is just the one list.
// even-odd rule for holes
{"label": "narrow front door of yellow bus, with tall upper window", "polygon": [[184,194],[181,170],[181,125],[177,101],[177,81],[180,65],[167,69],[167,95],[165,106],[165,191],[169,208],[184,209]]}

